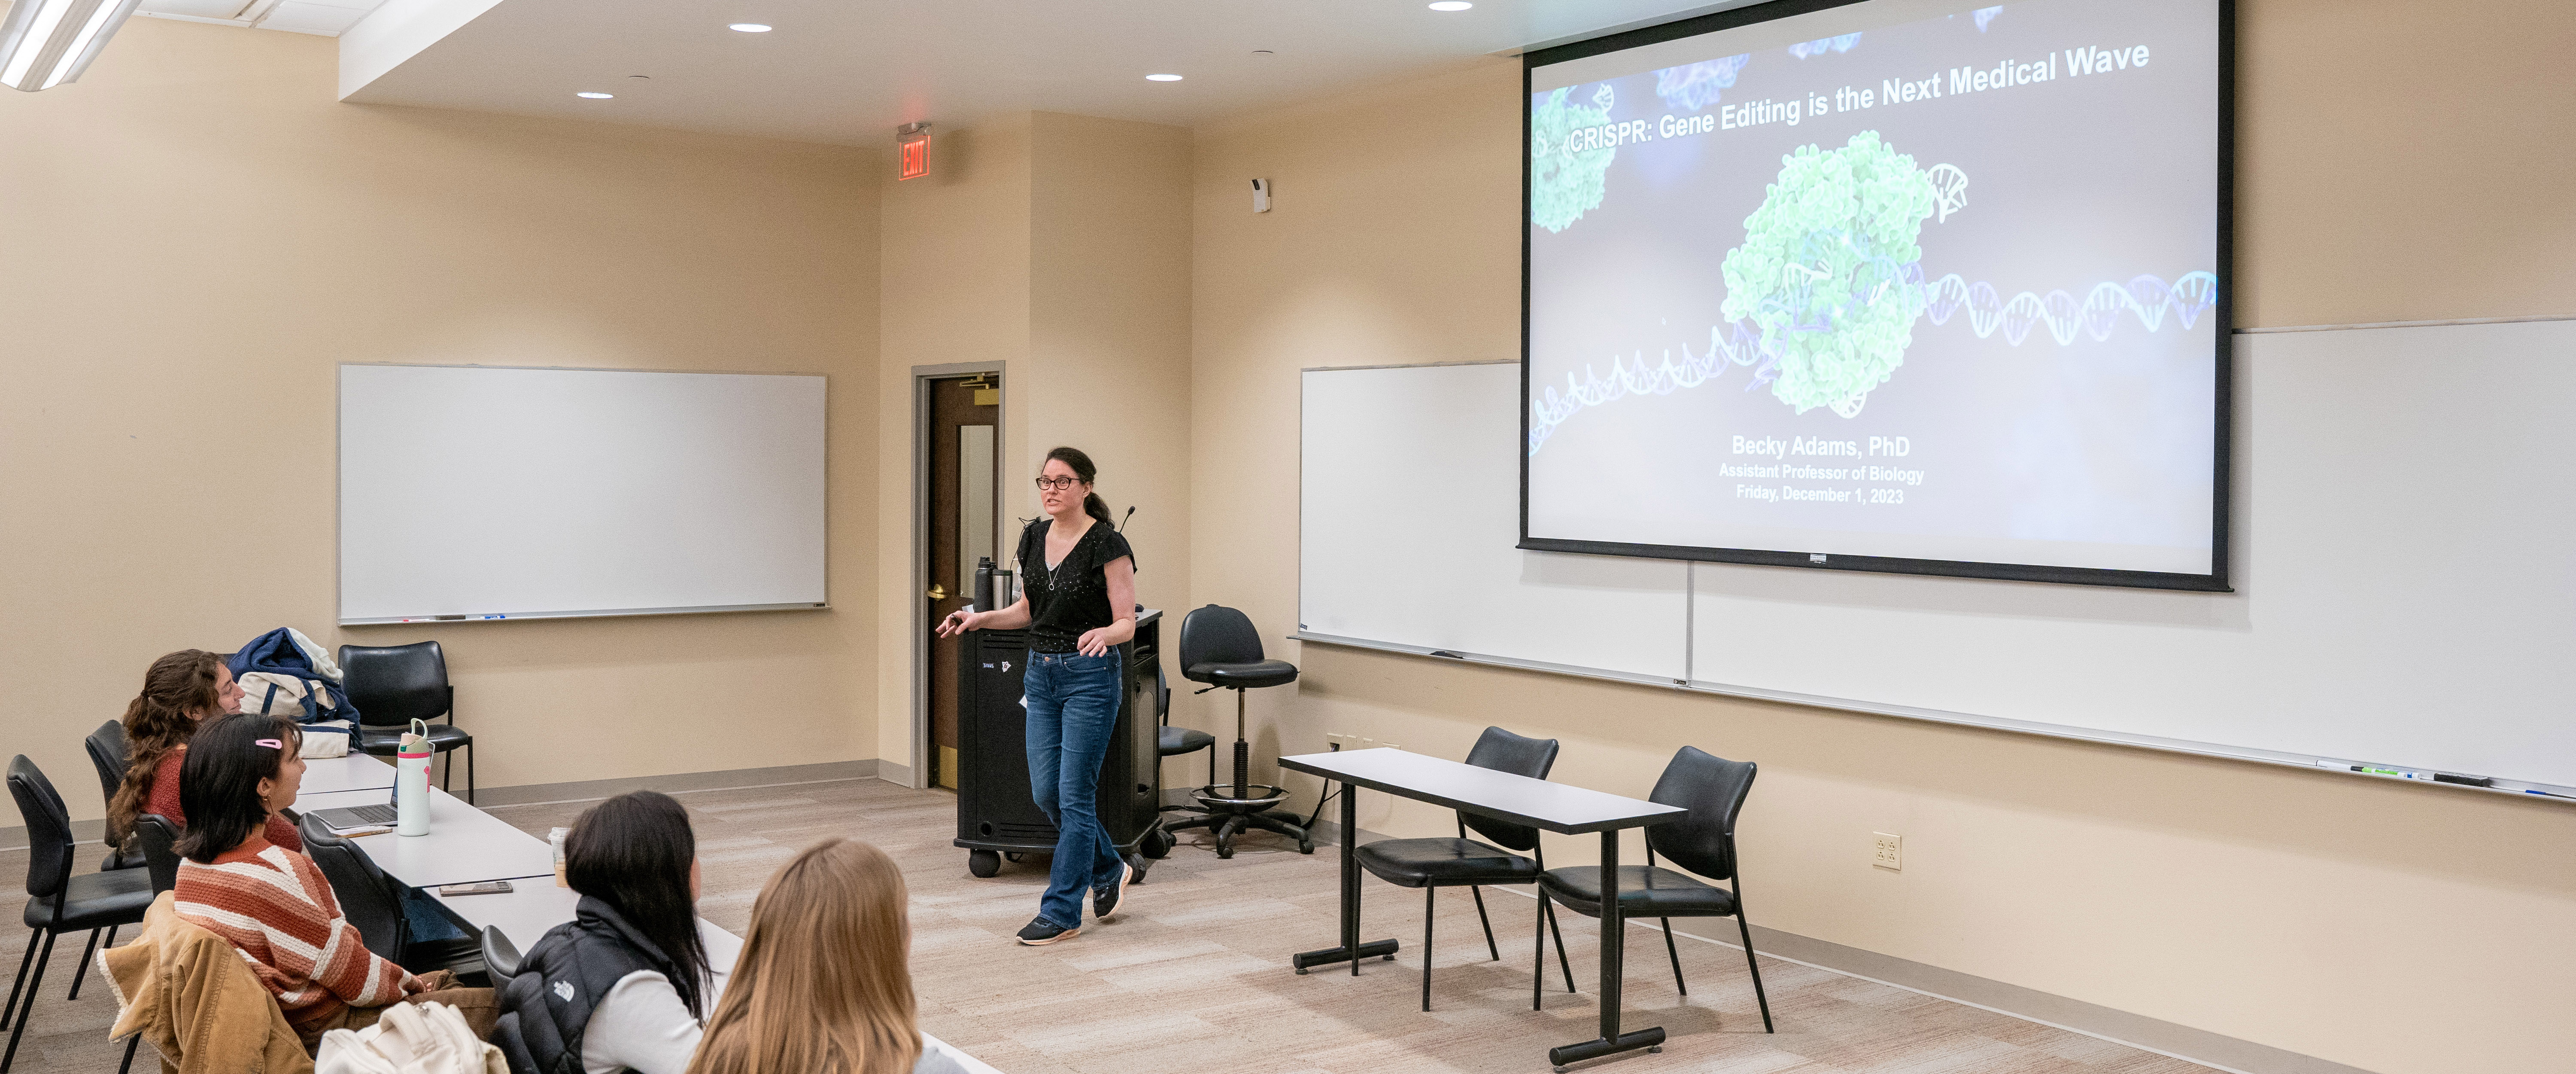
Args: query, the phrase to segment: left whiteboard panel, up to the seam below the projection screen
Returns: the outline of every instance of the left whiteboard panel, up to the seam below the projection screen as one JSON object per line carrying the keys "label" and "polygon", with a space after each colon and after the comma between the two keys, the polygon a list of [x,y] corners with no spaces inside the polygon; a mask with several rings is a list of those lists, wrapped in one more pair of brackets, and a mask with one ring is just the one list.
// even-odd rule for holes
{"label": "left whiteboard panel, up to the seam below the projection screen", "polygon": [[1685,564],[1520,551],[1520,363],[1309,368],[1298,631],[1677,683]]}

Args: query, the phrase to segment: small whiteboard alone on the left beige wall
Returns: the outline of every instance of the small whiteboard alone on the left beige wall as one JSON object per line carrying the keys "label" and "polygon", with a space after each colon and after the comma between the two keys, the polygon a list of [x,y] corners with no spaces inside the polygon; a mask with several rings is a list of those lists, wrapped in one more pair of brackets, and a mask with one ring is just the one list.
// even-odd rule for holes
{"label": "small whiteboard alone on the left beige wall", "polygon": [[822,376],[340,366],[340,623],[824,600]]}

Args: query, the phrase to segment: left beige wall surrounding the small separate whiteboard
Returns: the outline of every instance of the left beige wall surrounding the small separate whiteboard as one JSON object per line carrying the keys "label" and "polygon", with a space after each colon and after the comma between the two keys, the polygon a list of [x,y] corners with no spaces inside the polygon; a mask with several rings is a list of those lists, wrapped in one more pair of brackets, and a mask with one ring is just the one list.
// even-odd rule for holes
{"label": "left beige wall surrounding the small separate whiteboard", "polygon": [[[137,18],[0,100],[8,752],[98,816],[80,734],[152,657],[299,626],[438,639],[482,786],[876,757],[873,157],[332,72],[330,39]],[[832,376],[835,610],[335,628],[343,361]]]}

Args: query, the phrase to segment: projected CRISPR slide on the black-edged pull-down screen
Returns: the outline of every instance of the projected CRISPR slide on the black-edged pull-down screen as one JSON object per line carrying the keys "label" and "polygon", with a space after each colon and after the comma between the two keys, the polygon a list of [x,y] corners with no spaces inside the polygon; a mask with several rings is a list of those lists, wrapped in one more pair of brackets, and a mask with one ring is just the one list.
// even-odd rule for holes
{"label": "projected CRISPR slide on the black-edged pull-down screen", "polygon": [[1628,39],[1530,57],[1525,546],[2223,585],[2218,0]]}

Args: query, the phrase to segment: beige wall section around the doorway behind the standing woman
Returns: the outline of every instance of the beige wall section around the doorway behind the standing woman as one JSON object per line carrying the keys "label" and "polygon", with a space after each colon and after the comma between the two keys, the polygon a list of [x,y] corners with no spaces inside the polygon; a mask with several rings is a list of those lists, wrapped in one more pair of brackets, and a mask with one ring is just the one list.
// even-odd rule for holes
{"label": "beige wall section around the doorway behind the standing woman", "polygon": [[1005,556],[1038,515],[1030,479],[1069,443],[1100,466],[1128,538],[1136,598],[1177,608],[1190,549],[1190,131],[1015,113],[938,131],[930,175],[884,191],[878,368],[878,757],[912,762],[912,368],[1007,363]]}

